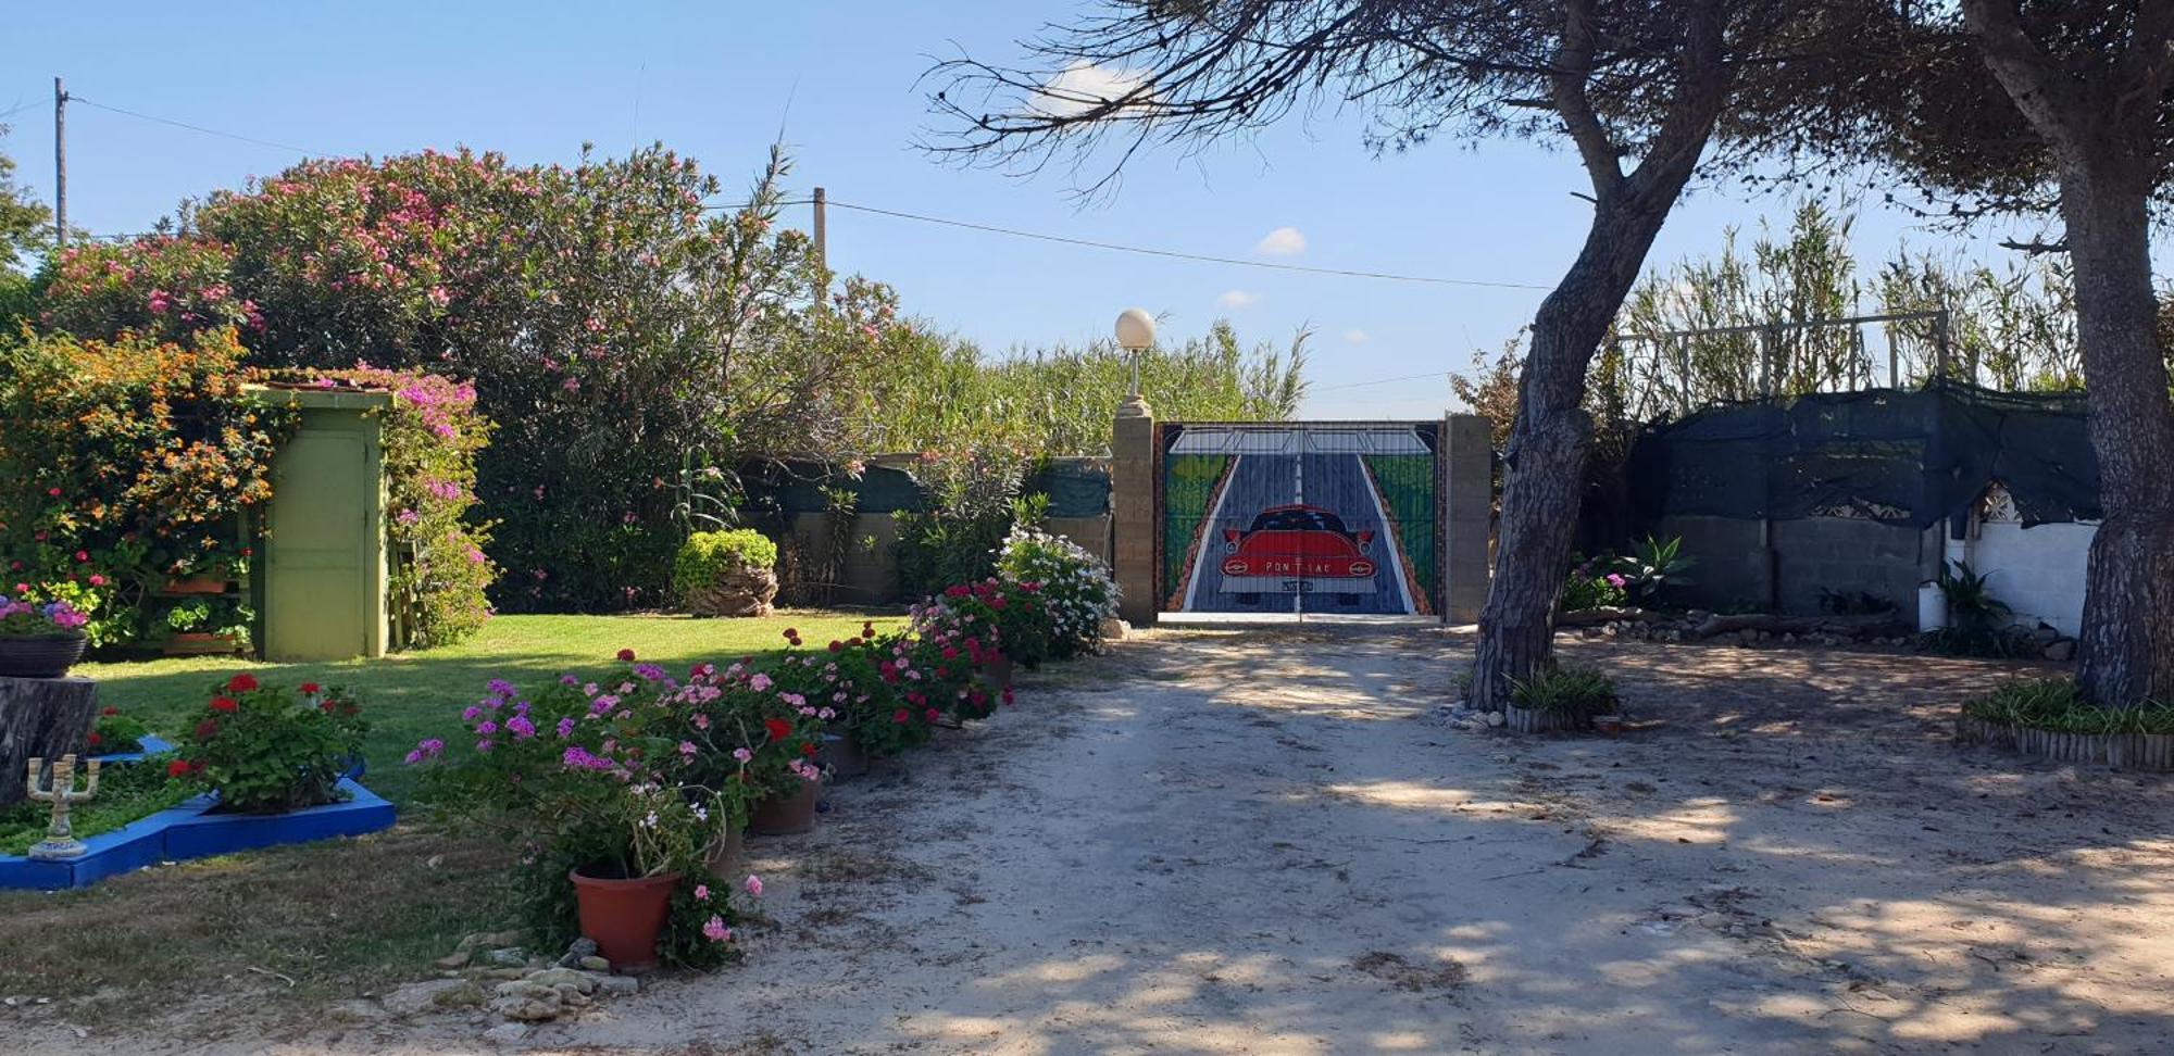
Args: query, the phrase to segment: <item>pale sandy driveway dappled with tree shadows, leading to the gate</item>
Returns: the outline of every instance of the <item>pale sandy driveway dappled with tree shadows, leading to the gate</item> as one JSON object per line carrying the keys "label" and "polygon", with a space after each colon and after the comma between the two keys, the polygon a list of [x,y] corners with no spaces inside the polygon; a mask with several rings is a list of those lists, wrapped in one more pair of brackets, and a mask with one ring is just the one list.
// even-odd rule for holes
{"label": "pale sandy driveway dappled with tree shadows, leading to the gate", "polygon": [[[746,967],[517,1049],[2174,1052],[2174,782],[1959,752],[1994,665],[1565,643],[1639,721],[1515,739],[1428,717],[1467,648],[1161,632],[1028,676],[754,845]],[[30,1052],[493,1052],[485,1026]]]}

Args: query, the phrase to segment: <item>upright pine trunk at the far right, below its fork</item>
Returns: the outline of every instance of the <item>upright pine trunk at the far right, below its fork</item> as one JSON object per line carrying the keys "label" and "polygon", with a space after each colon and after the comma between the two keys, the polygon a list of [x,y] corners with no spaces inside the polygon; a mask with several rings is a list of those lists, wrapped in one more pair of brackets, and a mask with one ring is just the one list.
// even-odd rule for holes
{"label": "upright pine trunk at the far right, below its fork", "polygon": [[2104,521],[2091,539],[2076,680],[2100,706],[2124,708],[2174,700],[2174,400],[2154,326],[2150,178],[2083,165],[2063,165],[2061,215]]}

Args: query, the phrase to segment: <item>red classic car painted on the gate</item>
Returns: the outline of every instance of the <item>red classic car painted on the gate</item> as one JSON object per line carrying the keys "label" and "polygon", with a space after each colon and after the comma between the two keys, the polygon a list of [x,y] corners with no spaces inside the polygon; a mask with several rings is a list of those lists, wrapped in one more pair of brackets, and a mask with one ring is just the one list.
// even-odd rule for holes
{"label": "red classic car painted on the gate", "polygon": [[1246,530],[1224,528],[1222,589],[1241,604],[1263,593],[1335,593],[1352,604],[1374,591],[1374,532],[1352,532],[1320,506],[1270,506]]}

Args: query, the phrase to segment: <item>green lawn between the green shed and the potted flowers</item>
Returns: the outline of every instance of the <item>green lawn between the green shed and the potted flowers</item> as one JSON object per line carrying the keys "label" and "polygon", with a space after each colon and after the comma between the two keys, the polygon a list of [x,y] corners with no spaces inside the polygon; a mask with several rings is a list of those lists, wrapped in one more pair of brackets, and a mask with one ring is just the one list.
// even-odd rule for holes
{"label": "green lawn between the green shed and the potted flowers", "polygon": [[[150,724],[152,732],[178,741],[202,715],[211,684],[235,671],[257,671],[278,684],[322,682],[352,689],[370,719],[372,791],[402,800],[413,789],[413,771],[400,765],[415,741],[452,737],[461,708],[483,695],[485,682],[504,678],[522,689],[539,687],[563,671],[609,671],[620,650],[685,671],[700,661],[728,663],[785,648],[785,628],[800,630],[811,648],[861,632],[861,613],[780,611],[763,619],[689,619],[674,615],[507,615],[491,619],[470,641],[443,650],[398,654],[383,661],[348,663],[252,663],[235,658],[170,658],[135,663],[89,663],[74,674],[98,680],[102,706],[117,706]],[[880,630],[900,617],[874,617]]]}

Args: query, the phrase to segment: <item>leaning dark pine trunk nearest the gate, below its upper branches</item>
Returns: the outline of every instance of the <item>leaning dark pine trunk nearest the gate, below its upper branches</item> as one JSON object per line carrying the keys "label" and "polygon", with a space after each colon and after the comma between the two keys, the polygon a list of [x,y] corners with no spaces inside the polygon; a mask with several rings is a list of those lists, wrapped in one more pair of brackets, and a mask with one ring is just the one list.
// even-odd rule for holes
{"label": "leaning dark pine trunk nearest the gate, below its upper branches", "polygon": [[1578,261],[1533,317],[1504,452],[1494,582],[1465,697],[1476,708],[1500,708],[1511,682],[1554,663],[1554,602],[1570,571],[1594,439],[1585,374],[1689,172],[1683,165],[1596,206]]}

